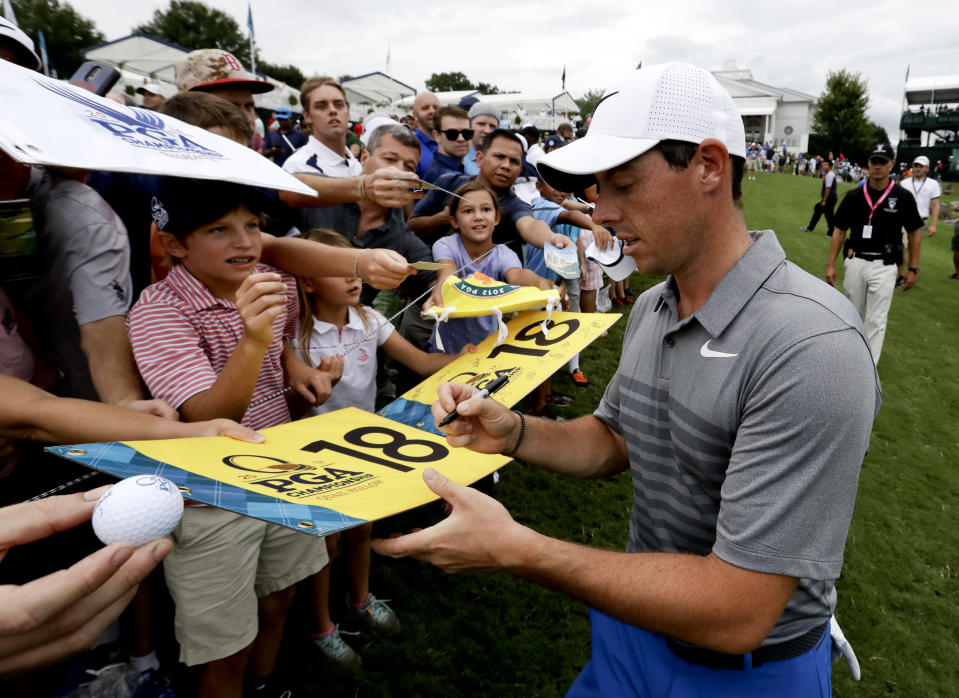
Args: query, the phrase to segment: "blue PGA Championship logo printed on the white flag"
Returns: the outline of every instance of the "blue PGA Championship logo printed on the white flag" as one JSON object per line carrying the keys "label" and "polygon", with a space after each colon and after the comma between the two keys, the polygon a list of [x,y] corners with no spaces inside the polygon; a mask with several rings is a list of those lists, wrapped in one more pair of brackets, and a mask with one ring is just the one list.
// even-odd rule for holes
{"label": "blue PGA Championship logo printed on the white flag", "polygon": [[95,99],[77,94],[72,89],[62,85],[50,84],[40,80],[35,80],[35,82],[64,99],[69,99],[98,112],[101,118],[92,115],[87,118],[132,146],[148,148],[181,158],[216,160],[223,158],[222,154],[200,145],[182,133],[167,130],[163,119],[153,112],[130,108],[129,110],[133,112],[133,116],[130,116],[122,110],[123,108],[114,109]]}

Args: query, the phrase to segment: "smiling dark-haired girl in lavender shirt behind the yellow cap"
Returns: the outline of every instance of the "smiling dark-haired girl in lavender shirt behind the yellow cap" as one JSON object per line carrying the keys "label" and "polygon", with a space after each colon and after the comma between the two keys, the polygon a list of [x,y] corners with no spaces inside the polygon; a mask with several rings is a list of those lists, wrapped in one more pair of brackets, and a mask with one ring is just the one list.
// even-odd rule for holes
{"label": "smiling dark-haired girl in lavender shirt behind the yellow cap", "polygon": [[[433,259],[447,266],[436,272],[436,287],[428,303],[442,305],[440,288],[446,277],[457,269],[463,270],[458,275],[461,277],[480,272],[491,279],[517,286],[536,286],[544,291],[553,288],[552,281],[524,269],[520,258],[509,247],[493,243],[499,209],[492,189],[473,181],[455,193],[458,196],[450,198],[449,206],[450,225],[456,232],[433,243]],[[496,318],[453,318],[437,323],[436,331],[445,351],[459,352],[467,343],[478,344],[496,331]],[[430,337],[430,350],[435,350],[436,346],[434,334]]]}

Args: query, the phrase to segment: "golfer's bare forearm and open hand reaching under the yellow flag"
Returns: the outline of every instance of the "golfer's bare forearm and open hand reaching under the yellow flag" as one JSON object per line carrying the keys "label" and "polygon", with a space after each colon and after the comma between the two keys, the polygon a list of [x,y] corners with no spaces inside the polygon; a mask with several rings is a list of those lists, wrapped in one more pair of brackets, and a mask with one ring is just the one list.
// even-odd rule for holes
{"label": "golfer's bare forearm and open hand reaching under the yellow flag", "polygon": [[495,499],[432,469],[424,479],[452,505],[452,514],[431,528],[374,540],[377,553],[412,556],[448,572],[512,572],[701,647],[736,654],[755,649],[798,582],[735,567],[713,554],[623,553],[556,540],[516,523]]}

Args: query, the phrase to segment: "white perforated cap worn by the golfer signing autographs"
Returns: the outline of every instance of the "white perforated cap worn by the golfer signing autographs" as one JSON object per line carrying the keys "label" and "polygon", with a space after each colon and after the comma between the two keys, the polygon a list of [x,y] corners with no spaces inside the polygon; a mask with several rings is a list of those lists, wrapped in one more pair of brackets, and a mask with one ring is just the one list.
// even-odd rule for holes
{"label": "white perforated cap worn by the golfer signing autographs", "polygon": [[708,70],[688,63],[651,65],[606,91],[585,138],[540,158],[536,169],[560,191],[579,191],[594,174],[632,160],[660,141],[715,138],[746,157],[746,132],[733,98]]}

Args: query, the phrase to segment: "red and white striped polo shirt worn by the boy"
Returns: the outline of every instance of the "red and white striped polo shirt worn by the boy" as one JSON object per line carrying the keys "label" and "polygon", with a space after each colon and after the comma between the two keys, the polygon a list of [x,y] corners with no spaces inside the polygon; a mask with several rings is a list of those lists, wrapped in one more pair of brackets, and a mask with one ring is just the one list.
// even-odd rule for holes
{"label": "red and white striped polo shirt worn by the boy", "polygon": [[[296,281],[266,264],[255,273],[274,272],[286,285],[286,313],[273,321],[273,342],[263,358],[251,402],[272,396],[246,411],[241,420],[250,429],[290,421],[283,395],[283,338],[296,335],[299,301]],[[163,281],[146,288],[127,316],[130,345],[137,368],[154,398],[179,409],[188,399],[209,390],[243,336],[243,320],[232,301],[217,298],[182,264]]]}

